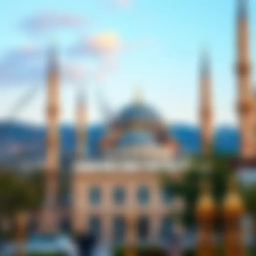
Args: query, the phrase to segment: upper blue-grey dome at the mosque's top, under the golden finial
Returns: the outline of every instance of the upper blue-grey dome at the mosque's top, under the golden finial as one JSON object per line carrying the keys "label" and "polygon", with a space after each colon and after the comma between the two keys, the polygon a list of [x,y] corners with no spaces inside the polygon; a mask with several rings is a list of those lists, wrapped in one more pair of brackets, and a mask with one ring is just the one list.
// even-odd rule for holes
{"label": "upper blue-grey dome at the mosque's top, under the golden finial", "polygon": [[147,119],[151,121],[159,120],[158,113],[148,105],[145,104],[133,104],[124,108],[118,120],[119,121],[131,121],[133,119]]}

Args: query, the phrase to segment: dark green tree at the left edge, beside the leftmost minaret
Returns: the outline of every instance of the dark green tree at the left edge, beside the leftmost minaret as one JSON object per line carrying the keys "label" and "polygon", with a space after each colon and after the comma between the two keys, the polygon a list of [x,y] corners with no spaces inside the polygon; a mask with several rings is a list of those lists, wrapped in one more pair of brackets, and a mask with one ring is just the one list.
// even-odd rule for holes
{"label": "dark green tree at the left edge, beside the leftmost minaret", "polygon": [[[0,171],[0,219],[14,227],[16,242],[25,240],[27,220],[43,199],[42,172]],[[17,255],[22,255],[20,252]]]}

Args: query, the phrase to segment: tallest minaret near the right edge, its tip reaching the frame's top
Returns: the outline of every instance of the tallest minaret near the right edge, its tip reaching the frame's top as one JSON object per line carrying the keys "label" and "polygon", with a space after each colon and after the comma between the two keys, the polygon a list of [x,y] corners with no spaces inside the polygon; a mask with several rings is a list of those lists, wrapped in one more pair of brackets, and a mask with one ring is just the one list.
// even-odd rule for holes
{"label": "tallest minaret near the right edge, its tip reaching the frame's top", "polygon": [[252,139],[251,65],[249,56],[247,0],[238,0],[236,72],[238,82],[240,156],[243,159],[251,159],[254,156]]}

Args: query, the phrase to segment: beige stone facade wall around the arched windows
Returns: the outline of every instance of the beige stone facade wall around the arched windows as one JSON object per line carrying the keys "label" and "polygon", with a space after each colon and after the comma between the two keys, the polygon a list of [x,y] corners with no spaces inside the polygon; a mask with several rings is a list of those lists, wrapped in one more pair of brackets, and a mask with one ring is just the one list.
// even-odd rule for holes
{"label": "beige stone facade wall around the arched windows", "polygon": [[[180,177],[178,174],[172,174],[172,176]],[[161,201],[160,181],[159,172],[75,172],[72,218],[74,231],[88,231],[89,218],[91,215],[96,215],[101,218],[102,239],[110,240],[113,237],[113,218],[122,216],[129,223],[129,230],[133,231],[131,236],[135,239],[138,217],[146,215],[150,219],[150,238],[156,239],[162,217],[175,210],[174,202],[166,204]],[[137,202],[137,189],[141,185],[149,188],[149,204],[145,206]],[[98,206],[91,206],[89,202],[89,190],[93,186],[101,187],[102,201]],[[113,189],[116,186],[123,186],[126,189],[126,199],[123,205],[116,205],[114,202]]]}

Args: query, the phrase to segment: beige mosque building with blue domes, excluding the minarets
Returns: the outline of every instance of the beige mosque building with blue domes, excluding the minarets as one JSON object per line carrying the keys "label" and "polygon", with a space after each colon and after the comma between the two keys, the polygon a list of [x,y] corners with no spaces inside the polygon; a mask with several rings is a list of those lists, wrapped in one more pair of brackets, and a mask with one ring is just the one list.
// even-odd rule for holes
{"label": "beige mosque building with blue domes, excluding the minarets", "polygon": [[187,161],[160,115],[137,99],[98,146],[100,159],[80,158],[74,167],[74,230],[105,242],[168,239],[171,214],[183,205],[162,186],[161,174],[181,178]]}

